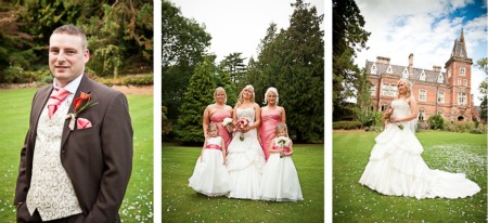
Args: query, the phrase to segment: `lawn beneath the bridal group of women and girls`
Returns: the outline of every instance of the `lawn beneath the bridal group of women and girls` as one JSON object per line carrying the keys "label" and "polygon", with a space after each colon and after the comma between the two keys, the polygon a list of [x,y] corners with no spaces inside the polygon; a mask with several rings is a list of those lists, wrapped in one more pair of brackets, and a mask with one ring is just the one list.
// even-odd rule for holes
{"label": "lawn beneath the bridal group of women and girls", "polygon": [[303,201],[208,198],[188,186],[201,147],[163,144],[164,222],[323,222],[323,145],[294,145]]}

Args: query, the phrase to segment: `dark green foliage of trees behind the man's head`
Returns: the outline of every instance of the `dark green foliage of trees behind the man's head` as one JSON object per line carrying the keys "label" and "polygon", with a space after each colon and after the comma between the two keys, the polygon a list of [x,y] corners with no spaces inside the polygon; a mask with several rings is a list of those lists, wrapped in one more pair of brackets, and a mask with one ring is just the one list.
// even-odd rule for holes
{"label": "dark green foliage of trees behind the man's head", "polygon": [[87,64],[89,73],[112,76],[114,73],[133,74],[153,69],[152,1],[7,2],[0,3],[0,8],[8,5],[0,12],[5,12],[2,18],[7,19],[2,22],[9,22],[1,24],[4,31],[0,35],[2,75],[8,71],[2,68],[7,66],[46,74],[49,70],[46,61],[49,38],[55,28],[65,24],[74,24],[87,34],[91,51],[91,60]]}

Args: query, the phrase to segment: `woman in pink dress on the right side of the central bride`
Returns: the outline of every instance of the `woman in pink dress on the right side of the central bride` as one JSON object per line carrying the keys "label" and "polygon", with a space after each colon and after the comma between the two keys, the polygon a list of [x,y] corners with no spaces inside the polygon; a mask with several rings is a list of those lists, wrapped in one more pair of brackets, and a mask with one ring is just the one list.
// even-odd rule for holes
{"label": "woman in pink dress on the right side of the central bride", "polygon": [[[277,137],[274,130],[278,123],[286,123],[285,110],[283,107],[278,106],[279,99],[278,90],[275,88],[271,87],[265,93],[265,104],[268,105],[261,108],[261,128],[259,129],[259,136],[266,160],[268,160],[269,157],[269,144]],[[287,135],[288,133],[286,132],[286,136]]]}

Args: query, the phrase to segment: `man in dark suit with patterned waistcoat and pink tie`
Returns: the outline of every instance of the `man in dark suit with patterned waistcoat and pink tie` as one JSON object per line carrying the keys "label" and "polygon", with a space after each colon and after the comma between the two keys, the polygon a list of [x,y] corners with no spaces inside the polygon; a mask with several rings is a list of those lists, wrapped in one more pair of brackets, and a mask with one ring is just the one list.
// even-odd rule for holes
{"label": "man in dark suit with patterned waistcoat and pink tie", "polygon": [[56,28],[49,41],[53,84],[36,92],[21,152],[17,222],[120,222],[132,171],[126,96],[84,74],[87,37]]}

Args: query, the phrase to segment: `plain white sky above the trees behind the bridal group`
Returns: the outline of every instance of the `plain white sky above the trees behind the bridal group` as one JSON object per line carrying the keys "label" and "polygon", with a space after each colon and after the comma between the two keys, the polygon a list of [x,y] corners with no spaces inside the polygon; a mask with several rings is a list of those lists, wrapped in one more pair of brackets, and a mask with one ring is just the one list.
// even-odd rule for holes
{"label": "plain white sky above the trees behind the bridal group", "polygon": [[[278,30],[290,26],[295,0],[169,0],[182,15],[204,24],[211,36],[210,53],[220,62],[230,53],[241,52],[247,63],[257,57],[257,47],[271,22]],[[323,0],[304,0],[324,14]]]}

